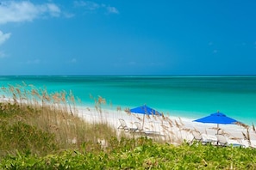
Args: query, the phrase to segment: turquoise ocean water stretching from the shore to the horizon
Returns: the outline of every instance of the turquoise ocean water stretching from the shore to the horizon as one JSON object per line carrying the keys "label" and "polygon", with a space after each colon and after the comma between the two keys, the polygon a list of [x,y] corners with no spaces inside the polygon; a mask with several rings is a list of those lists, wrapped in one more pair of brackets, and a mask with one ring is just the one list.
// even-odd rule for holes
{"label": "turquoise ocean water stretching from the shore to the horizon", "polygon": [[113,109],[147,104],[192,119],[220,111],[256,124],[256,76],[0,76],[1,87],[22,82],[49,93],[72,90],[83,106],[94,106],[91,94],[105,98]]}

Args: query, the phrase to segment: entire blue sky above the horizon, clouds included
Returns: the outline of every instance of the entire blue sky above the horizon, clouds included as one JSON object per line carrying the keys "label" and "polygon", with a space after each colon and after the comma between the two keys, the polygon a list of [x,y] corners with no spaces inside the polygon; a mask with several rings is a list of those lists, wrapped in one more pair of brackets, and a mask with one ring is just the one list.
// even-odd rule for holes
{"label": "entire blue sky above the horizon, clouds included", "polygon": [[1,0],[0,75],[255,75],[256,1]]}

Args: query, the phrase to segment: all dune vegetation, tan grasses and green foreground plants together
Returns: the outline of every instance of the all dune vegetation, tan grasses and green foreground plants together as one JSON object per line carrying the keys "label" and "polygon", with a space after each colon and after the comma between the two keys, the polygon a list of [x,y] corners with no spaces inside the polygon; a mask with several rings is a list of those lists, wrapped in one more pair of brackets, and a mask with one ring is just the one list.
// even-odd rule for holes
{"label": "all dune vegetation, tan grasses and green foreground plants together", "polygon": [[164,114],[155,117],[165,121],[164,136],[130,135],[117,133],[117,127],[108,123],[103,114],[106,100],[101,96],[91,96],[94,120],[78,115],[72,92],[48,93],[25,83],[1,89],[1,169],[256,168],[253,148],[182,141],[176,136],[190,130]]}

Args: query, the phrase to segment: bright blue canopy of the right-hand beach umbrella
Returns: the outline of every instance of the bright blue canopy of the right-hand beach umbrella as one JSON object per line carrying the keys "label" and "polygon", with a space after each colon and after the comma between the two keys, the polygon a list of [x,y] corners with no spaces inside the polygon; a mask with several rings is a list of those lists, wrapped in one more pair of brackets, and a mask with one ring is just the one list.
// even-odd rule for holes
{"label": "bright blue canopy of the right-hand beach umbrella", "polygon": [[234,118],[229,118],[222,112],[215,112],[210,114],[207,117],[194,120],[194,122],[209,123],[209,124],[234,124],[235,122],[238,122],[238,121],[235,120]]}

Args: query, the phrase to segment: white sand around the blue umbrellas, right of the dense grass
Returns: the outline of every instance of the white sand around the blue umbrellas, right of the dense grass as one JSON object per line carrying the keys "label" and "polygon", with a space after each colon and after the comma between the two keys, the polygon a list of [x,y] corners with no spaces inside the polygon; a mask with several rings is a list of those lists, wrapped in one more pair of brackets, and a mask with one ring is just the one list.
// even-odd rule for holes
{"label": "white sand around the blue umbrellas, right of the dense grass", "polygon": [[[173,114],[174,115],[174,114]],[[134,122],[143,124],[144,114],[128,113],[125,111],[104,110],[98,112],[96,108],[78,107],[78,117],[84,118],[90,122],[105,121],[116,128],[117,133],[122,132],[117,128],[121,124],[119,118],[125,120],[130,128],[135,128]],[[161,138],[166,143],[180,144],[184,142],[192,142],[194,136],[192,131],[199,131],[203,140],[212,142],[217,141],[216,130],[217,124],[203,124],[193,122],[189,118],[178,118],[170,116],[145,116],[144,131],[157,131],[161,134]],[[243,133],[247,135],[247,129],[236,124],[220,124],[219,134],[227,137],[228,143],[240,144],[243,147],[256,147],[256,133],[252,127],[249,128],[250,142],[245,139]]]}

